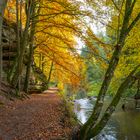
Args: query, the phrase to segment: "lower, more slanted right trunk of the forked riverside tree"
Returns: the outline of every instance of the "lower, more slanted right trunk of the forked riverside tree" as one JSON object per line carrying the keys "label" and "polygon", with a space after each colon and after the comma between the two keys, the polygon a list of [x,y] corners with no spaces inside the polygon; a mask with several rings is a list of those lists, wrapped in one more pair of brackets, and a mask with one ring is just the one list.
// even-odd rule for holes
{"label": "lower, more slanted right trunk of the forked riverside tree", "polygon": [[95,137],[96,135],[98,135],[101,130],[105,127],[105,125],[107,124],[108,120],[110,119],[112,113],[115,111],[115,108],[122,96],[122,93],[125,91],[125,89],[127,89],[128,87],[130,87],[136,80],[136,77],[140,76],[140,71],[136,72],[136,70],[139,68],[140,66],[137,66],[125,79],[125,81],[120,85],[120,87],[118,88],[117,93],[115,94],[115,97],[113,98],[112,102],[110,103],[110,105],[108,106],[108,108],[106,109],[104,115],[102,116],[101,120],[92,128],[90,129],[90,132],[87,135],[87,140],[89,140],[90,138]]}

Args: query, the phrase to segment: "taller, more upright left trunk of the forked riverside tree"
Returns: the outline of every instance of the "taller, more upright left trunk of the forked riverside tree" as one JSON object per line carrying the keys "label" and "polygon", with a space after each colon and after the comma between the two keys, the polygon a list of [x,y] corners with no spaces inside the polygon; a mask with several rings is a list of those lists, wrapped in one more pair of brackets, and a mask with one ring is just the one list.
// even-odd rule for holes
{"label": "taller, more upright left trunk of the forked riverside tree", "polygon": [[[131,16],[131,13],[133,11],[135,1],[132,2],[132,0],[126,0],[126,6],[125,6],[125,15],[123,19],[122,29],[120,32],[119,41],[117,42],[117,45],[115,46],[114,53],[112,55],[112,58],[110,60],[108,69],[105,73],[105,78],[102,83],[101,89],[99,91],[96,104],[94,106],[93,112],[88,119],[88,121],[83,125],[83,127],[80,130],[80,140],[88,140],[88,133],[91,131],[91,129],[94,127],[94,125],[97,123],[99,119],[99,115],[101,113],[103,103],[104,103],[104,97],[106,95],[106,92],[108,90],[108,87],[110,85],[111,79],[113,78],[114,71],[118,65],[119,57],[121,54],[121,50],[124,47],[125,39],[130,32],[128,23]],[[134,26],[134,25],[133,25]]]}

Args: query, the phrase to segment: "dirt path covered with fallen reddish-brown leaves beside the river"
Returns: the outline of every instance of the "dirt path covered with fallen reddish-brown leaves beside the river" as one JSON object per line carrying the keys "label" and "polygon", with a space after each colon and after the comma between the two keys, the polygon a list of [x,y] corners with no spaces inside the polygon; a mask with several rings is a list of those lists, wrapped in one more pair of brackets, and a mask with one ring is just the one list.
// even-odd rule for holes
{"label": "dirt path covered with fallen reddish-brown leaves beside the river", "polygon": [[0,140],[67,140],[62,100],[49,90],[0,107]]}

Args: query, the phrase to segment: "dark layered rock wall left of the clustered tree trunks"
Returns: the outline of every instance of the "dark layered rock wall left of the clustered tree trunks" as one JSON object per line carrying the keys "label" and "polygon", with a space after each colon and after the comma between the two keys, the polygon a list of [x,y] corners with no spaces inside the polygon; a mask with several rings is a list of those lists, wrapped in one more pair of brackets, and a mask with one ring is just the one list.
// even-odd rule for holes
{"label": "dark layered rock wall left of the clustered tree trunks", "polygon": [[4,19],[2,30],[3,70],[7,72],[12,67],[17,54],[16,25]]}

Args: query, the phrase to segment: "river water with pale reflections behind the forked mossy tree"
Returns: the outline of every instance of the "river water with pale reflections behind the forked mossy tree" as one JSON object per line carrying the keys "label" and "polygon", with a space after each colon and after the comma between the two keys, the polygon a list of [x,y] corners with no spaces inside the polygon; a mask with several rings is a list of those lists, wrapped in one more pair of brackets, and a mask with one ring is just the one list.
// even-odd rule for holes
{"label": "river water with pale reflections behind the forked mossy tree", "polygon": [[[85,123],[89,118],[96,98],[89,100],[87,98],[75,101],[75,114],[81,123]],[[110,98],[105,99],[107,107]],[[134,101],[125,101],[126,109],[122,110],[122,102],[117,106],[116,111],[112,114],[102,132],[93,140],[140,140],[140,109],[135,109]]]}

